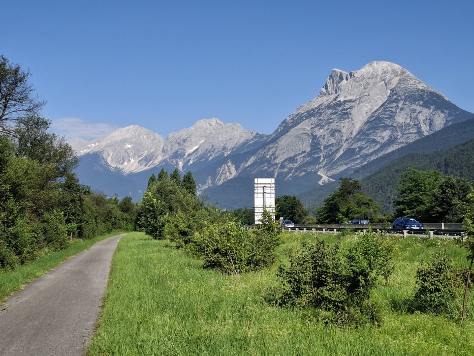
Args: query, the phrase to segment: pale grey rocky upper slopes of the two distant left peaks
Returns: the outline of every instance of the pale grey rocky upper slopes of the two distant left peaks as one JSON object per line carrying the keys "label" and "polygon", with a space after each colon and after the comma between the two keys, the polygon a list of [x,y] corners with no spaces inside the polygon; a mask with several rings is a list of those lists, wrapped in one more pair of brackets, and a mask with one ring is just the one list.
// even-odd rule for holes
{"label": "pale grey rocky upper slopes of the two distant left peaks", "polygon": [[[193,127],[162,136],[133,125],[118,129],[91,142],[71,140],[79,156],[99,154],[123,174],[138,173],[162,165],[180,171],[235,152],[245,152],[267,135],[246,131],[240,124],[223,124],[216,118],[200,120]],[[205,163],[204,163],[205,165]]]}

